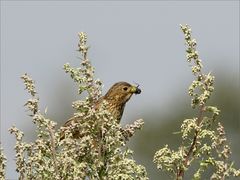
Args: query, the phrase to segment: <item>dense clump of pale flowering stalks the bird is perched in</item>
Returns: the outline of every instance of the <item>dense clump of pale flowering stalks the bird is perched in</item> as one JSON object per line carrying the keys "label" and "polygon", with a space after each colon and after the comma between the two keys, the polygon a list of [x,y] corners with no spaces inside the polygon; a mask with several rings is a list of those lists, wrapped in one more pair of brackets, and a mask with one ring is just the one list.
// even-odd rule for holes
{"label": "dense clump of pale flowering stalks the bird is perched in", "polygon": [[[107,111],[107,102],[100,111],[94,109],[93,103],[101,96],[102,82],[94,77],[94,68],[88,59],[87,35],[83,32],[79,33],[78,47],[80,67],[67,63],[64,70],[78,84],[78,93],[87,95],[73,102],[77,111],[74,116],[79,121],[71,126],[56,129],[57,123],[39,109],[34,81],[27,74],[21,77],[30,94],[25,106],[36,124],[37,139],[26,143],[23,132],[14,126],[9,130],[17,141],[15,158],[19,179],[148,179],[145,168],[136,164],[133,152],[126,147],[143,121],[121,127]],[[79,139],[72,138],[76,128]],[[60,140],[63,131],[65,138]]]}

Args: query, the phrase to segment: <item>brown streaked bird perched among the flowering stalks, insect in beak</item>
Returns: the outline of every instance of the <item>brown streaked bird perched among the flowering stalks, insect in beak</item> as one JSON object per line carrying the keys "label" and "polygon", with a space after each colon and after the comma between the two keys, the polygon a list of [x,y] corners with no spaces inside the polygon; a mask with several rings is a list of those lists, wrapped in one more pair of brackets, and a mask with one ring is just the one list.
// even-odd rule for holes
{"label": "brown streaked bird perched among the flowering stalks, insect in beak", "polygon": [[[102,102],[107,101],[107,110],[112,116],[120,122],[126,103],[132,97],[133,94],[140,94],[141,89],[138,86],[133,86],[127,82],[115,83],[108,92],[100,97],[98,101],[94,103],[94,107],[98,110],[101,107]],[[77,122],[78,118],[72,117],[65,124],[64,127],[70,126],[73,122]],[[78,132],[72,132],[74,138],[78,138]],[[61,140],[64,139],[64,132],[61,134]]]}

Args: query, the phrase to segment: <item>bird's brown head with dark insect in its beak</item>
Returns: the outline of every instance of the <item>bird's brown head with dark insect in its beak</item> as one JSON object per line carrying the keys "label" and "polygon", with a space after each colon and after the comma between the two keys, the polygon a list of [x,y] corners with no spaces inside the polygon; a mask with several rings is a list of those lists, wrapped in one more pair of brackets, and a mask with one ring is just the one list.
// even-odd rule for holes
{"label": "bird's brown head with dark insect in its beak", "polygon": [[125,105],[133,94],[140,94],[141,89],[138,86],[131,85],[127,82],[115,83],[106,93],[104,99],[118,105]]}

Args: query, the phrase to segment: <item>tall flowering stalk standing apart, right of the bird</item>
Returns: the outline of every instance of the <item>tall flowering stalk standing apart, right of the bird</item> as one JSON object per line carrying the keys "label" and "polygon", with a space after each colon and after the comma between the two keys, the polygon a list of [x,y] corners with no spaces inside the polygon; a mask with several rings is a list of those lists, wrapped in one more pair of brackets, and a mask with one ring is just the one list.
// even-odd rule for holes
{"label": "tall flowering stalk standing apart, right of the bird", "polygon": [[174,174],[177,180],[183,179],[185,172],[197,160],[198,169],[193,174],[193,179],[201,179],[202,174],[210,166],[214,169],[211,179],[240,177],[240,170],[236,170],[229,160],[231,150],[224,127],[217,119],[220,110],[207,105],[214,90],[214,76],[203,73],[203,65],[196,50],[197,42],[192,38],[189,26],[181,25],[181,30],[187,46],[187,61],[191,64],[195,77],[188,93],[191,96],[192,108],[197,109],[197,115],[183,121],[182,142],[178,150],[171,150],[166,145],[155,153],[154,162],[158,169]]}

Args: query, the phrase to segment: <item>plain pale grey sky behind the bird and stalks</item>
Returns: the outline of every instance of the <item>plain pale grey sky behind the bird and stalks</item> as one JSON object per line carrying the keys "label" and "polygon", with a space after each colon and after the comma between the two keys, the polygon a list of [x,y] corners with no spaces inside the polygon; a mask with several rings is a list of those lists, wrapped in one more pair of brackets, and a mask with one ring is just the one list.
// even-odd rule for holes
{"label": "plain pale grey sky behind the bird and stalks", "polygon": [[239,83],[239,1],[1,1],[1,142],[7,177],[16,178],[9,127],[15,124],[27,139],[34,136],[23,107],[29,96],[22,74],[32,76],[42,109],[47,106],[48,116],[62,124],[79,98],[62,66],[79,64],[77,33],[85,31],[104,92],[117,81],[137,82],[143,90],[128,103],[122,123],[146,111],[166,113],[172,101],[189,102],[192,76],[179,28],[185,23],[197,39],[204,70]]}

